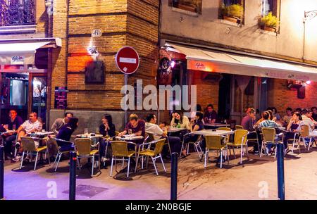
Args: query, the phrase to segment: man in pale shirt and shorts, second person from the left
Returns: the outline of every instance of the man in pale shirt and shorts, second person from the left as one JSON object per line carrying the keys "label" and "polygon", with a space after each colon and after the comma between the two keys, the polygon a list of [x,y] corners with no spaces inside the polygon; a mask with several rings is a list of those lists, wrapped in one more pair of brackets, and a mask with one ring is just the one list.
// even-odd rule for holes
{"label": "man in pale shirt and shorts, second person from the left", "polygon": [[[31,112],[29,115],[29,120],[26,120],[23,122],[22,125],[18,128],[16,131],[18,133],[18,140],[17,140],[17,145],[20,144],[21,137],[27,136],[28,133],[32,132],[39,132],[42,130],[42,123],[37,120],[37,113]],[[22,147],[20,146],[19,152],[22,152]],[[21,156],[17,154],[13,161],[18,161],[20,160]]]}

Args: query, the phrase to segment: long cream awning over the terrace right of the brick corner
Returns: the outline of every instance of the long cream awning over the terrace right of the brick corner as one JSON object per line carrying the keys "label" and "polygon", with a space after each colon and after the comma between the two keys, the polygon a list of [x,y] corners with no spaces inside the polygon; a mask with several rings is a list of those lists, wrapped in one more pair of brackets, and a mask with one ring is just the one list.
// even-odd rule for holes
{"label": "long cream awning over the terrace right of the brick corner", "polygon": [[188,70],[317,81],[317,66],[313,65],[278,61],[264,56],[262,58],[261,56],[246,56],[173,42],[166,42],[165,46],[170,51],[178,51],[186,55]]}

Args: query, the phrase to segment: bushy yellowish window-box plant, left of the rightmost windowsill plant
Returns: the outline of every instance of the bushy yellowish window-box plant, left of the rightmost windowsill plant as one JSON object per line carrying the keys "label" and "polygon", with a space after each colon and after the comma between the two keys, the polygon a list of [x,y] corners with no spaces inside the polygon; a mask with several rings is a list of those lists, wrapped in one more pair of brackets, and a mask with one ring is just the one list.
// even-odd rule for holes
{"label": "bushy yellowish window-box plant, left of the rightmost windowsill plant", "polygon": [[221,14],[224,20],[240,24],[243,18],[243,6],[240,4],[231,4],[228,6],[221,4]]}

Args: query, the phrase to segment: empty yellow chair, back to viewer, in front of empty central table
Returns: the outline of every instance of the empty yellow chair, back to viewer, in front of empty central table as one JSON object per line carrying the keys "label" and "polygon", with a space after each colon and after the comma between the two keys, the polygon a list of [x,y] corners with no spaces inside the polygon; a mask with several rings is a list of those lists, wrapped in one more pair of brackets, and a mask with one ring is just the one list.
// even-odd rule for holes
{"label": "empty yellow chair, back to viewer, in front of empty central table", "polygon": [[[217,150],[220,151],[220,168],[223,168],[223,151],[225,151],[225,157],[227,158],[227,146],[226,144],[221,144],[221,136],[205,136],[206,140],[206,154],[205,154],[205,163],[204,167],[207,167],[207,160],[209,159],[209,151],[210,150]],[[228,164],[229,164],[229,158]]]}

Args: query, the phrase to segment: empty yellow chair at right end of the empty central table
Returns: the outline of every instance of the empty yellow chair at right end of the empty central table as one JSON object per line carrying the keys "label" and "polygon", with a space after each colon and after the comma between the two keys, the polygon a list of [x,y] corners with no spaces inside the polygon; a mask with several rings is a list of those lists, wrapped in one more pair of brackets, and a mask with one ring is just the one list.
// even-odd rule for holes
{"label": "empty yellow chair at right end of the empty central table", "polygon": [[227,144],[228,147],[232,147],[234,156],[235,156],[235,148],[240,148],[241,149],[240,164],[242,164],[242,156],[244,155],[244,149],[246,149],[247,156],[249,158],[248,144],[247,144],[247,134],[249,134],[249,132],[247,130],[235,130],[235,139],[234,139],[234,141],[233,142],[229,142]]}

